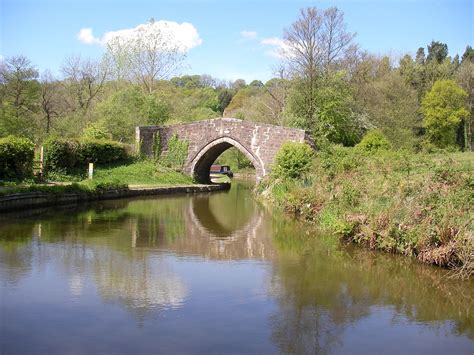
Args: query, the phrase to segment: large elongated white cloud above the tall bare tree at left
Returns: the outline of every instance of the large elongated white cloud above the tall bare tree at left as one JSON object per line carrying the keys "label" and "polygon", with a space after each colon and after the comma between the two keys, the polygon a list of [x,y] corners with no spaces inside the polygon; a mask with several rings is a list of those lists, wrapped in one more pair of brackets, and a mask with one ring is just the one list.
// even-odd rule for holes
{"label": "large elongated white cloud above the tall bare tree at left", "polygon": [[92,28],[82,28],[77,38],[85,44],[106,45],[111,40],[146,38],[150,34],[159,34],[166,39],[166,42],[169,41],[172,45],[178,46],[183,52],[202,43],[198,31],[191,23],[179,24],[173,21],[154,21],[140,24],[134,28],[109,31],[104,33],[101,38],[94,36]]}

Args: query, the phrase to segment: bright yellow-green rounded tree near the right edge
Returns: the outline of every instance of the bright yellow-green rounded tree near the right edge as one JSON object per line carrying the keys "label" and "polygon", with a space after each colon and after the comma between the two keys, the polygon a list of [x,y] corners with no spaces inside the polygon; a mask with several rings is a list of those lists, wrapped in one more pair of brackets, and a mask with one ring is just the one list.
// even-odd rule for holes
{"label": "bright yellow-green rounded tree near the right edge", "polygon": [[469,117],[467,93],[452,80],[437,81],[421,103],[429,141],[440,148],[456,144],[456,129]]}

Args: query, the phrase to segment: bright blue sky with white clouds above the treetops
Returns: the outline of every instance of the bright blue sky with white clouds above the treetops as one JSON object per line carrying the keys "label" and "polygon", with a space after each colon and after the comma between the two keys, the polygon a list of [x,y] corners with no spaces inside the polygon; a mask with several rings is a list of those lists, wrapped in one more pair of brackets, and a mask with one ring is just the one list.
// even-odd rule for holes
{"label": "bright blue sky with white clouds above the treetops", "polygon": [[[100,58],[117,33],[167,21],[187,58],[177,74],[266,81],[275,74],[283,31],[307,6],[337,6],[356,43],[377,55],[414,54],[432,40],[449,54],[474,43],[472,0],[0,0],[0,56],[25,55],[60,76],[72,55]],[[169,26],[170,27],[170,26]],[[120,31],[120,32],[118,32]],[[130,32],[130,31],[129,31]]]}

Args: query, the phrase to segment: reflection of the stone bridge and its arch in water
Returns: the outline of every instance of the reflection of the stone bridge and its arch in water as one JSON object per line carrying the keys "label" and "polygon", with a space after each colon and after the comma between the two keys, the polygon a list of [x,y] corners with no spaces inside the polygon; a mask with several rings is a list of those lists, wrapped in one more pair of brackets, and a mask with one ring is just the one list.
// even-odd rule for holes
{"label": "reflection of the stone bridge and its arch in water", "polygon": [[[149,223],[137,223],[137,229],[132,231],[132,246],[137,250],[161,249],[213,260],[271,257],[271,219],[264,217],[263,208],[248,193],[244,192],[246,198],[237,198],[241,189],[248,188],[240,184],[228,193],[186,200],[180,210],[184,222],[182,235],[176,235],[176,224],[166,219],[159,222],[157,230],[150,228]],[[229,198],[229,194],[235,196]]]}

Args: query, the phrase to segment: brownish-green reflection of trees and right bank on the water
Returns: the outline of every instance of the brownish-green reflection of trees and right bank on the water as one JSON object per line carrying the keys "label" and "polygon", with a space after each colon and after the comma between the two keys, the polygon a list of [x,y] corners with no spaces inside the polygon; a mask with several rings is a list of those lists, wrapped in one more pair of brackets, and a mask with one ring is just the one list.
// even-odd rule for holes
{"label": "brownish-green reflection of trees and right bank on the water", "polygon": [[272,339],[282,352],[331,352],[344,329],[374,306],[430,327],[453,321],[455,332],[474,337],[472,282],[446,279],[445,270],[407,258],[342,247],[332,237],[295,234],[282,220],[273,232],[271,292],[279,309]]}

